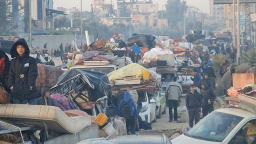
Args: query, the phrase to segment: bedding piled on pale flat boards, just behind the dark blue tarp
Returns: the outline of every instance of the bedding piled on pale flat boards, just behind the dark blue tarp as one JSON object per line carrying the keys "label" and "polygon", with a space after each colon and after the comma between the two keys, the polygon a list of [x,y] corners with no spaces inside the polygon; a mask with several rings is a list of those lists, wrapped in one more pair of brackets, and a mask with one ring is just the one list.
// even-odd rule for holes
{"label": "bedding piled on pale flat boards, just behind the dark blue tarp", "polygon": [[101,51],[87,51],[84,52],[82,56],[77,57],[77,59],[78,62],[76,62],[75,65],[119,65],[119,63],[114,62],[117,59],[115,56]]}

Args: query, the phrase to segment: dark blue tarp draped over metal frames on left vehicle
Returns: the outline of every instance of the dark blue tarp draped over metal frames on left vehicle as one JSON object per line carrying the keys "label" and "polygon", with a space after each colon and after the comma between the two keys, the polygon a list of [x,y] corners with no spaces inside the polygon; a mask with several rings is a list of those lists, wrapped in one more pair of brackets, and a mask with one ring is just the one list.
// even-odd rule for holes
{"label": "dark blue tarp draped over metal frames on left vehicle", "polygon": [[[91,88],[88,93],[88,101],[96,101],[97,99],[107,96],[110,97],[112,93],[111,85],[108,77],[105,74],[93,71],[86,71],[82,69],[69,69],[65,71],[56,82],[54,87],[66,83],[70,80],[76,80],[77,77],[82,78]],[[80,90],[81,91],[81,90]]]}

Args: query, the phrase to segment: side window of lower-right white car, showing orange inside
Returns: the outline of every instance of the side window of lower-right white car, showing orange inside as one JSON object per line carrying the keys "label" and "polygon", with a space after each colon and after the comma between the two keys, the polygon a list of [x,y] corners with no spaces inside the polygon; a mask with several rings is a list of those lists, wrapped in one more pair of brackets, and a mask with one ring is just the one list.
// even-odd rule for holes
{"label": "side window of lower-right white car, showing orange inside", "polygon": [[256,143],[256,119],[245,123],[228,142],[228,144],[243,143]]}

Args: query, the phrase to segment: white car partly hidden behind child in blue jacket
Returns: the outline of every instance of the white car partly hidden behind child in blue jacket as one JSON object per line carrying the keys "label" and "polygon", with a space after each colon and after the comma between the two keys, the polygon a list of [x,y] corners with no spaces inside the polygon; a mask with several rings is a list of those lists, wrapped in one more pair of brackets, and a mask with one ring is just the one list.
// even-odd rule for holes
{"label": "white car partly hidden behind child in blue jacket", "polygon": [[148,98],[146,91],[137,91],[138,101],[142,103],[142,108],[140,109],[139,116],[142,121],[147,121],[148,123],[156,121],[156,112],[155,112],[155,100],[154,98]]}

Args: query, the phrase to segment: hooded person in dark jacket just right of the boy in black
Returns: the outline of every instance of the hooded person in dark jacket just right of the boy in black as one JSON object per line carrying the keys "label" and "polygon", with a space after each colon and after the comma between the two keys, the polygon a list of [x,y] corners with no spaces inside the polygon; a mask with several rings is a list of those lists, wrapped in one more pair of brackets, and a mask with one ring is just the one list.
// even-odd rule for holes
{"label": "hooded person in dark jacket just right of the boy in black", "polygon": [[213,101],[216,98],[212,88],[207,87],[203,83],[201,84],[201,96],[202,96],[202,116],[205,117],[208,113],[214,110]]}

